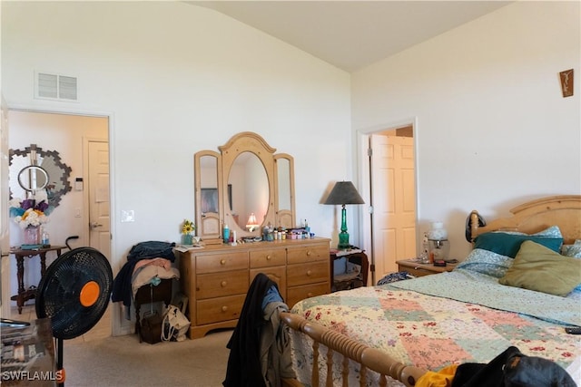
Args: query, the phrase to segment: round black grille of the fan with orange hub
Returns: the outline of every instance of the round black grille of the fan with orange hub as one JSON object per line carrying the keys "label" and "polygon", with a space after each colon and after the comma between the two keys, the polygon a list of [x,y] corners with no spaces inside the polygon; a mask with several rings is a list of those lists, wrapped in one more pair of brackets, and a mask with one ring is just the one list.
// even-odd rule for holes
{"label": "round black grille of the fan with orange hub", "polygon": [[[92,281],[99,295],[93,304],[84,306],[81,292]],[[38,286],[36,315],[51,318],[54,337],[72,339],[99,322],[112,290],[113,272],[107,258],[91,247],[76,248],[48,266]]]}

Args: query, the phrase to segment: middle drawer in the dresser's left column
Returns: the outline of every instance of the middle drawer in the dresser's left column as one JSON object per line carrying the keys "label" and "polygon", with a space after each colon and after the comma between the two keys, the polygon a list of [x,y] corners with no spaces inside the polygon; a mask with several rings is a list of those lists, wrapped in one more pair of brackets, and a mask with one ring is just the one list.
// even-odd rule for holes
{"label": "middle drawer in the dresser's left column", "polygon": [[248,270],[198,275],[196,276],[196,298],[201,300],[222,295],[246,294],[249,284]]}

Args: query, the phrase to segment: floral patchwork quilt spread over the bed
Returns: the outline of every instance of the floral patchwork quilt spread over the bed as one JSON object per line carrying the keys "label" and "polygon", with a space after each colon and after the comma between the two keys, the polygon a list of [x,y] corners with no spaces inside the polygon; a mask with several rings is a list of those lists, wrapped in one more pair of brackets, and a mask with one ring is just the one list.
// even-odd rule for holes
{"label": "floral patchwork quilt spread over the bed", "polygon": [[309,298],[292,312],[432,371],[452,363],[488,363],[510,345],[564,368],[581,353],[581,336],[565,334],[563,325],[392,285]]}

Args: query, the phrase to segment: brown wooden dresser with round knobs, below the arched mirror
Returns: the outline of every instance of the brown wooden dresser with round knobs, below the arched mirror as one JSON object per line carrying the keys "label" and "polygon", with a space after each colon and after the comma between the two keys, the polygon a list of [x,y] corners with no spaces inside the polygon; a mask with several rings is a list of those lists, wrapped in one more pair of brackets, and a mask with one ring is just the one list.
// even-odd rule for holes
{"label": "brown wooden dresser with round knobs, below the arched mirror", "polygon": [[235,327],[246,292],[259,273],[279,285],[290,308],[304,298],[330,293],[329,247],[330,239],[317,237],[209,245],[180,253],[190,338]]}

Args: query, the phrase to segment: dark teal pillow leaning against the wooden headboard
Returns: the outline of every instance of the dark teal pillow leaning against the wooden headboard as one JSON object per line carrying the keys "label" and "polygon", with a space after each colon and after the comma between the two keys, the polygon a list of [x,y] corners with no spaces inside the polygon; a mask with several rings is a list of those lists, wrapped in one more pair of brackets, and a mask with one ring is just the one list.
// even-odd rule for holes
{"label": "dark teal pillow leaning against the wooden headboard", "polygon": [[517,256],[520,244],[526,240],[537,242],[539,245],[548,247],[556,253],[561,250],[561,245],[563,245],[562,237],[539,237],[526,234],[487,232],[476,237],[474,240],[474,248],[482,248],[500,254],[501,256],[514,258]]}

